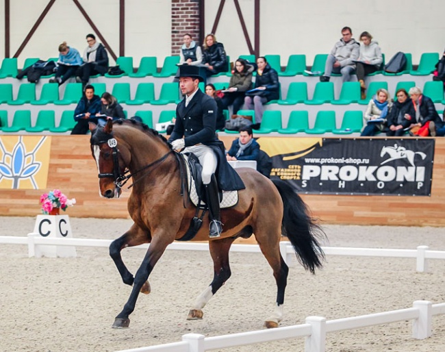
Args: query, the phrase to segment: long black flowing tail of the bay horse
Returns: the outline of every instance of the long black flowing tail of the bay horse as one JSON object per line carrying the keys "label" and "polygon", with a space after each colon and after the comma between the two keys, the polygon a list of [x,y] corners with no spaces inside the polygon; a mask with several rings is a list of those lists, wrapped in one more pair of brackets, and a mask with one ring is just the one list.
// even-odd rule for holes
{"label": "long black flowing tail of the bay horse", "polygon": [[322,267],[322,260],[325,259],[325,253],[318,243],[318,239],[326,238],[325,232],[291,186],[279,179],[272,182],[283,199],[282,234],[292,243],[298,262],[314,274],[316,268]]}

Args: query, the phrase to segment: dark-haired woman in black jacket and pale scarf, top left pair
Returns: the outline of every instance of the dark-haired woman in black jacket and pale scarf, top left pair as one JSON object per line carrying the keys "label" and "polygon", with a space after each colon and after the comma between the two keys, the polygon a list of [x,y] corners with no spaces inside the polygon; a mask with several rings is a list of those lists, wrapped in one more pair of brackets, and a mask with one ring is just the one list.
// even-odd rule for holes
{"label": "dark-haired woman in black jacket and pale scarf, top left pair", "polygon": [[76,80],[83,86],[88,83],[90,76],[105,75],[108,71],[108,54],[105,47],[96,41],[94,34],[86,36],[88,47],[84,50],[84,64],[77,71]]}

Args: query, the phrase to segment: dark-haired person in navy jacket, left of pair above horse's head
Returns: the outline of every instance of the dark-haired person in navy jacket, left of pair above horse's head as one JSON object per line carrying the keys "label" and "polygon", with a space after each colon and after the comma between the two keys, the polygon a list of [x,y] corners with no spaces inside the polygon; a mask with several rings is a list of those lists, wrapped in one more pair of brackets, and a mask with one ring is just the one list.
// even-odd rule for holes
{"label": "dark-haired person in navy jacket, left of pair above horse's head", "polygon": [[88,123],[97,124],[96,114],[101,111],[101,98],[94,94],[94,87],[89,85],[85,87],[79,103],[74,110],[74,120],[77,124],[74,126],[71,134],[86,134]]}

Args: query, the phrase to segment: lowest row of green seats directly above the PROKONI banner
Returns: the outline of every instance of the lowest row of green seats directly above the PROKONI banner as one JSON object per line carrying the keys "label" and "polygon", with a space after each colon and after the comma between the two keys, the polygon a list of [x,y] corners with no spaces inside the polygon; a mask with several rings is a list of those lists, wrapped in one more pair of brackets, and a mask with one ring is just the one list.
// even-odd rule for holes
{"label": "lowest row of green seats directly above the PROKONI banner", "polygon": [[[255,123],[254,110],[239,110],[240,115],[252,116]],[[353,134],[360,132],[363,128],[363,112],[359,110],[348,110],[344,112],[342,124],[337,128],[335,119],[335,111],[325,110],[317,112],[314,127],[309,127],[309,112],[307,110],[294,110],[290,112],[288,125],[283,128],[281,111],[266,110],[263,114],[261,126],[259,129],[253,129],[254,134],[270,134],[278,132],[279,134],[297,134],[304,132],[305,134],[325,134],[331,132],[333,134]],[[228,134],[238,134],[238,131],[225,129]]]}

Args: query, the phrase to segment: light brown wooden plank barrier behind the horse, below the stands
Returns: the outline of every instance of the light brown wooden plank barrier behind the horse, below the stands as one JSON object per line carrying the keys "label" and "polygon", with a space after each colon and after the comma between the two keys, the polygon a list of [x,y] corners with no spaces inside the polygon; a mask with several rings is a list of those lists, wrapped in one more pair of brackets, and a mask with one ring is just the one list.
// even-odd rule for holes
{"label": "light brown wooden plank barrier behind the horse, below the stands", "polygon": [[[226,147],[236,136],[224,136]],[[299,137],[301,138],[301,137]],[[1,190],[0,215],[40,214],[40,194],[60,188],[77,204],[70,216],[128,218],[128,190],[120,199],[99,197],[97,166],[89,136],[52,136],[47,189]],[[325,223],[351,225],[445,226],[445,138],[436,138],[431,197],[303,194],[314,216]]]}

